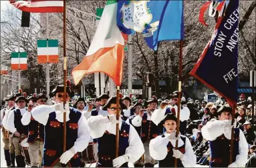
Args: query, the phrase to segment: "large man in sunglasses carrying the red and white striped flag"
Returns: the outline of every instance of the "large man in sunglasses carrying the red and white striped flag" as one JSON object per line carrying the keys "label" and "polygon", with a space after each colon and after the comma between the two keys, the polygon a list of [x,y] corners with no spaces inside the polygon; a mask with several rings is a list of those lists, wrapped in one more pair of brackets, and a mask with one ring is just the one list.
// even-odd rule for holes
{"label": "large man in sunglasses carrying the red and white striped flag", "polygon": [[[80,111],[63,105],[63,85],[57,85],[52,91],[55,105],[38,105],[31,111],[35,121],[45,125],[43,147],[43,167],[60,167],[61,163],[69,167],[79,167],[78,152],[88,146],[90,133],[86,118]],[[66,101],[70,101],[72,91],[67,86]],[[66,152],[63,153],[63,113],[66,111]]]}

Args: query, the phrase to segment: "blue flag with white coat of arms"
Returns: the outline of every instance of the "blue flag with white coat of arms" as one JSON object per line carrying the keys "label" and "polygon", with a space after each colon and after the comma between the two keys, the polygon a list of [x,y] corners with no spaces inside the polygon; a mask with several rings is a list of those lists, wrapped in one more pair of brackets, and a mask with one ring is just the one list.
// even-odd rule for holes
{"label": "blue flag with white coat of arms", "polygon": [[117,24],[123,33],[142,33],[148,47],[184,38],[183,1],[118,1]]}

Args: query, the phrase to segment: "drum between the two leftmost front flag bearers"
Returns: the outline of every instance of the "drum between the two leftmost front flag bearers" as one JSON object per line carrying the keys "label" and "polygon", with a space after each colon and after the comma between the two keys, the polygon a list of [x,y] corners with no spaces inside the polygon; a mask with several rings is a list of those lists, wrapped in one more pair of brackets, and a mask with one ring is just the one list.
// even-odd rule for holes
{"label": "drum between the two leftmost front flag bearers", "polygon": [[84,159],[84,163],[96,163],[96,159],[95,159],[95,147],[96,145],[98,145],[96,142],[92,141],[92,138],[91,138],[91,141],[90,143],[88,144],[88,147],[86,149],[84,149],[84,151],[82,152],[82,156],[83,156],[83,159]]}

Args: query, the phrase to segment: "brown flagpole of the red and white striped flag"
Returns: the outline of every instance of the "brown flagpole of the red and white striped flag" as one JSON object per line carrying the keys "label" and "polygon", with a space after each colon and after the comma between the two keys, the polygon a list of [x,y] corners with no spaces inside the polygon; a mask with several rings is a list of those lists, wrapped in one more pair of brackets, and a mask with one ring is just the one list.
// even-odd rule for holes
{"label": "brown flagpole of the red and white striped flag", "polygon": [[[66,56],[66,0],[63,0],[63,104],[66,104],[67,94],[67,56]],[[63,153],[66,151],[66,112],[63,113]],[[66,167],[66,166],[65,166]]]}

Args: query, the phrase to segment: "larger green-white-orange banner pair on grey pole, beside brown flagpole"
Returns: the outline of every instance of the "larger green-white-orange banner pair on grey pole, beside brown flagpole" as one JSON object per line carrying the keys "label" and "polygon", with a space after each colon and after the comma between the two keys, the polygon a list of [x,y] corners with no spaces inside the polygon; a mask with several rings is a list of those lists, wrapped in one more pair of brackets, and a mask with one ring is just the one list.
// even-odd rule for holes
{"label": "larger green-white-orange banner pair on grey pole, beside brown flagpole", "polygon": [[[37,40],[37,61],[38,63],[59,62],[59,42],[57,39]],[[47,57],[48,56],[48,57]]]}

